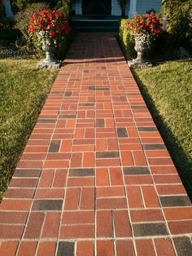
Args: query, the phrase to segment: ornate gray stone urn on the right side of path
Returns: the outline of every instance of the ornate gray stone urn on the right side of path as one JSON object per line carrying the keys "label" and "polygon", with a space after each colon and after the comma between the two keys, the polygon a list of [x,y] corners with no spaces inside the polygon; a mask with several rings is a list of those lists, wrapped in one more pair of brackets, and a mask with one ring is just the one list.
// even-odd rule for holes
{"label": "ornate gray stone urn on the right side of path", "polygon": [[128,61],[129,67],[139,66],[147,67],[151,66],[151,63],[144,58],[146,51],[150,48],[150,38],[147,34],[135,34],[135,46],[134,49],[137,51],[137,58]]}

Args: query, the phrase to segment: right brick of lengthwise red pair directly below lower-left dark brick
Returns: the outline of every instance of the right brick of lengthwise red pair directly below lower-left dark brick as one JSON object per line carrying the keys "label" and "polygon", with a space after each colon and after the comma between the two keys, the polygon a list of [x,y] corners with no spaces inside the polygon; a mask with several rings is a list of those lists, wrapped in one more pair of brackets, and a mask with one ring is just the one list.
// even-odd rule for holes
{"label": "right brick of lengthwise red pair directly below lower-left dark brick", "polygon": [[46,213],[45,223],[42,229],[43,238],[58,238],[59,223],[61,219],[60,213]]}

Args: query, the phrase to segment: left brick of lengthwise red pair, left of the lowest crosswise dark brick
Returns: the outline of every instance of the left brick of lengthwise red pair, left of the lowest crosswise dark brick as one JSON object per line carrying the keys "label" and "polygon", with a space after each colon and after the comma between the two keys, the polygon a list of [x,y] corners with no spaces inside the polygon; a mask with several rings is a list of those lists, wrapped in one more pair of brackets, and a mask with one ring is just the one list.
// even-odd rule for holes
{"label": "left brick of lengthwise red pair, left of the lowest crosswise dark brick", "polygon": [[112,237],[111,211],[97,211],[97,237]]}

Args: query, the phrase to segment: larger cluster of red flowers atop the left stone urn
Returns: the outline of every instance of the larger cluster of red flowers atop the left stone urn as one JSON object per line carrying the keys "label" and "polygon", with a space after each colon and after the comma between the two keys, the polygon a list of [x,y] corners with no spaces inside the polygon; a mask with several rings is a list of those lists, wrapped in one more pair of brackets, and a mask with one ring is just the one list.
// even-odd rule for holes
{"label": "larger cluster of red flowers atop the left stone urn", "polygon": [[68,20],[58,11],[45,9],[33,14],[29,21],[28,33],[37,33],[38,38],[55,39],[70,31]]}

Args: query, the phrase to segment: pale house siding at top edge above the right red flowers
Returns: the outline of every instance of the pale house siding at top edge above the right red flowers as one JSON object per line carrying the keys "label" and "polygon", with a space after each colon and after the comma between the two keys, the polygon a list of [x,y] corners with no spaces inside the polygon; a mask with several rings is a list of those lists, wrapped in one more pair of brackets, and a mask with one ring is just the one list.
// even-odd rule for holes
{"label": "pale house siding at top edge above the right red flowers", "polygon": [[143,14],[153,8],[156,12],[160,11],[161,0],[137,0],[137,13]]}

